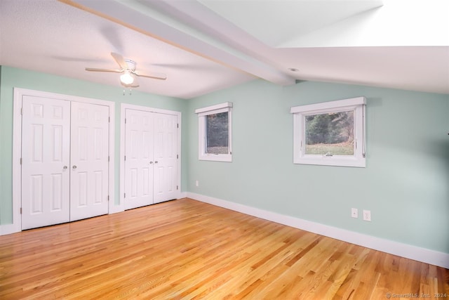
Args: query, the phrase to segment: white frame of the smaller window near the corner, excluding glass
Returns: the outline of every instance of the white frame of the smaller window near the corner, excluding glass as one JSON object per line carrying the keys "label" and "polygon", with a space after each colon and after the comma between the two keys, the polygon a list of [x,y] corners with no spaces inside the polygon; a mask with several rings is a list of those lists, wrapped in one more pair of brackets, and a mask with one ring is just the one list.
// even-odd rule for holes
{"label": "white frame of the smaller window near the corner, excluding glass", "polygon": [[[227,154],[211,154],[206,152],[206,117],[208,115],[228,113],[228,150]],[[202,107],[195,110],[198,115],[198,159],[211,160],[215,162],[232,162],[232,102],[220,103],[208,107]]]}

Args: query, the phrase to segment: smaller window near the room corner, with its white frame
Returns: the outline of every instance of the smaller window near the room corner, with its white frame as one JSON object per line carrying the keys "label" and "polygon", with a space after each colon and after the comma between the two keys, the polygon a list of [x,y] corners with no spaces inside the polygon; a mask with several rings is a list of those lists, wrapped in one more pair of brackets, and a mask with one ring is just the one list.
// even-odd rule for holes
{"label": "smaller window near the room corner, with its white frame", "polygon": [[199,159],[232,162],[231,112],[230,102],[195,110],[199,119]]}

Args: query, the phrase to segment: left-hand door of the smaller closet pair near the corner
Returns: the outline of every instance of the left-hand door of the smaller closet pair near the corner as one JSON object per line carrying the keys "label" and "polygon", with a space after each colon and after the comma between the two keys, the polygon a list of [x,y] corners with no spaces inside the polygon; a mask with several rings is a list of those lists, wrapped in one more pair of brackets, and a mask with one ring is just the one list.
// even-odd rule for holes
{"label": "left-hand door of the smaller closet pair near the corner", "polygon": [[154,126],[152,112],[125,112],[125,209],[153,204]]}

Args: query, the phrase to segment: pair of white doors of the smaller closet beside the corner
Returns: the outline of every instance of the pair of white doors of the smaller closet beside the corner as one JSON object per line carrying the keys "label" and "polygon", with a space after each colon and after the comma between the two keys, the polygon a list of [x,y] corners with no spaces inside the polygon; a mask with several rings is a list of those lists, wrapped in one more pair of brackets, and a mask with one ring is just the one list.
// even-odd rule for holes
{"label": "pair of white doors of the smaller closet beside the corner", "polygon": [[125,209],[175,199],[177,116],[126,109],[125,119]]}

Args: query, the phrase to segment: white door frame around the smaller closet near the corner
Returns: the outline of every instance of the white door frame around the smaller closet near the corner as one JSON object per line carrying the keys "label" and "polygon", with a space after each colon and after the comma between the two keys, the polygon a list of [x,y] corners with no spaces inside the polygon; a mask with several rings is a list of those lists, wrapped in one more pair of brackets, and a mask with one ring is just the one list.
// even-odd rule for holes
{"label": "white door frame around the smaller closet near the corner", "polygon": [[128,103],[121,103],[120,106],[120,191],[119,191],[119,198],[120,198],[120,207],[122,211],[125,210],[125,110],[142,110],[145,112],[156,112],[159,114],[165,114],[165,115],[175,115],[177,117],[177,178],[176,178],[176,184],[179,187],[177,189],[176,193],[176,199],[180,199],[182,196],[181,193],[181,140],[182,140],[182,113],[177,112],[175,110],[163,110],[160,108],[154,108],[154,107],[147,107],[147,106],[141,106],[141,105],[133,105]]}

